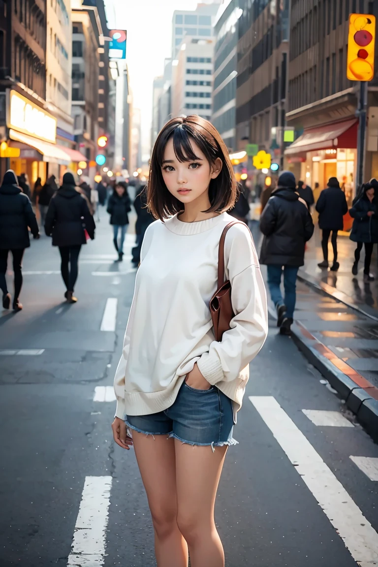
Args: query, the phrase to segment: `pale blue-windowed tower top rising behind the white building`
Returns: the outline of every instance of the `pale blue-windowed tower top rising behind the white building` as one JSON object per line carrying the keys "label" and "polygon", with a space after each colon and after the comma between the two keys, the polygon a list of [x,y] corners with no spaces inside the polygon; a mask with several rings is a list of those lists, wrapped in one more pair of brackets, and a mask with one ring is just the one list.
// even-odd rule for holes
{"label": "pale blue-windowed tower top rising behind the white building", "polygon": [[206,39],[213,36],[213,22],[220,2],[197,5],[196,10],[175,10],[172,18],[172,59],[179,52],[184,37]]}

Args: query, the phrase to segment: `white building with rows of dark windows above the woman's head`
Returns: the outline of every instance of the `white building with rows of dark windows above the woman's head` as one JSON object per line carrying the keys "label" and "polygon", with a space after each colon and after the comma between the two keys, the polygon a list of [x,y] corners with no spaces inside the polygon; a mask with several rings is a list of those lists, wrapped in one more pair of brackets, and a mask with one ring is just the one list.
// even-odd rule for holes
{"label": "white building with rows of dark windows above the woman's head", "polygon": [[214,40],[186,36],[172,70],[172,116],[211,118]]}

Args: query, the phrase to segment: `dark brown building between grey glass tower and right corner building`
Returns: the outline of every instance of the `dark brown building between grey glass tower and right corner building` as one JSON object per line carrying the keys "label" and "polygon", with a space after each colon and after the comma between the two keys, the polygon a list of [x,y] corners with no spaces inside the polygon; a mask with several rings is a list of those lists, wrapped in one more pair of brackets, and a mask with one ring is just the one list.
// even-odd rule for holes
{"label": "dark brown building between grey glass tower and right corner building", "polygon": [[[302,2],[301,2],[302,4]],[[236,146],[253,143],[283,162],[289,0],[240,0]]]}

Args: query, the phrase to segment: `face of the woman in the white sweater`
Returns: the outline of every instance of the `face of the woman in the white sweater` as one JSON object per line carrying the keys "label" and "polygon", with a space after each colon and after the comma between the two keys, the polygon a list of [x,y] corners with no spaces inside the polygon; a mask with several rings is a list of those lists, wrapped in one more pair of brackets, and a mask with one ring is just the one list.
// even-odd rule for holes
{"label": "face of the woman in the white sweater", "polygon": [[190,203],[201,197],[209,189],[211,179],[218,177],[222,170],[222,160],[216,158],[210,166],[205,154],[194,141],[190,142],[198,159],[190,162],[179,162],[173,149],[173,138],[165,146],[162,174],[169,193],[182,203]]}

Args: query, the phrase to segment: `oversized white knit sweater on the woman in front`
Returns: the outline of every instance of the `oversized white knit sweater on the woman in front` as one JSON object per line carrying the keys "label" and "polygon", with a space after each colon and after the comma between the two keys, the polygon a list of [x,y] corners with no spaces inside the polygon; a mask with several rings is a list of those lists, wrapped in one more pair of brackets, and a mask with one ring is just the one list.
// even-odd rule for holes
{"label": "oversized white knit sweater on the woman in front", "polygon": [[233,400],[236,422],[249,362],[267,335],[267,306],[252,236],[247,226],[232,226],[224,262],[235,317],[222,341],[214,340],[209,302],[217,287],[220,235],[233,220],[222,213],[188,223],[175,215],[148,227],[114,378],[117,417],[167,409],[197,362],[206,380]]}

